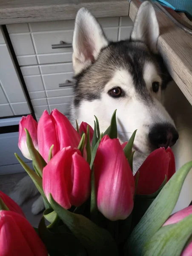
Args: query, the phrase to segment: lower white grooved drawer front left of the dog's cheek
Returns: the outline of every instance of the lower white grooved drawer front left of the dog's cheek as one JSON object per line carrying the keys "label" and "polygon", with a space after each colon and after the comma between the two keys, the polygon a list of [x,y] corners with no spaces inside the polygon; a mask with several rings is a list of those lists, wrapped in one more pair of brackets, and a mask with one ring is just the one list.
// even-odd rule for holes
{"label": "lower white grooved drawer front left of the dog's cheek", "polygon": [[[73,85],[72,63],[43,64],[21,67],[26,87],[34,107],[37,120],[44,110],[49,113],[57,108],[66,116],[72,102]],[[59,87],[59,84],[64,84]]]}

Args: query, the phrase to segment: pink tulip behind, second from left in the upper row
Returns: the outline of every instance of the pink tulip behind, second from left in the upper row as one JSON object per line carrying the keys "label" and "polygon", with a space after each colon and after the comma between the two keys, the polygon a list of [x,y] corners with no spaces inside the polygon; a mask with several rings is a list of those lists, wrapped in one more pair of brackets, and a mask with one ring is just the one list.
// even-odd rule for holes
{"label": "pink tulip behind, second from left in the upper row", "polygon": [[[68,146],[77,148],[80,143],[80,134],[75,130],[66,116],[54,109],[52,113],[45,110],[38,123],[39,152],[48,161],[49,150],[54,145],[52,155]],[[86,151],[84,152],[86,155]]]}

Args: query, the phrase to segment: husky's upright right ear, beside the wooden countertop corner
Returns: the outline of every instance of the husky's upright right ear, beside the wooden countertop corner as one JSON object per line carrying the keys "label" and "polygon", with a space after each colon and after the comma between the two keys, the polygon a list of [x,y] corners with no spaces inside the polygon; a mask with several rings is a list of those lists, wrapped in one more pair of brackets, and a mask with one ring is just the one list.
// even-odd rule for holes
{"label": "husky's upright right ear, beside the wooden countertop corner", "polygon": [[149,1],[145,1],[136,15],[131,40],[143,41],[152,52],[157,53],[158,37],[159,25],[155,10]]}

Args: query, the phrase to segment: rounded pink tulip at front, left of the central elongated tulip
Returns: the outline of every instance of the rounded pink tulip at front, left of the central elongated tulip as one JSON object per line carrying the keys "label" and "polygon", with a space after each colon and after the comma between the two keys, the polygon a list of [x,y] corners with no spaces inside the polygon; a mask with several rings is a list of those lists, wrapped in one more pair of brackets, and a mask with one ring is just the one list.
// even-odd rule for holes
{"label": "rounded pink tulip at front, left of the central elongated tulip", "polygon": [[60,150],[43,169],[43,190],[63,208],[80,206],[90,195],[90,167],[78,149]]}

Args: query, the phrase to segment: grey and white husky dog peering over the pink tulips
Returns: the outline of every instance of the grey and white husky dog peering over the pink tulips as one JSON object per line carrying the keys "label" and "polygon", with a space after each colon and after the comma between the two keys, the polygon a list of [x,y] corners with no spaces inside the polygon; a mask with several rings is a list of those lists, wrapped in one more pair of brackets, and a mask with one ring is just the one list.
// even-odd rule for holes
{"label": "grey and white husky dog peering over the pink tulips", "polygon": [[[163,107],[163,94],[171,80],[158,54],[159,26],[155,10],[145,1],[138,11],[129,40],[110,42],[92,14],[82,8],[75,20],[73,68],[76,85],[71,121],[93,125],[94,115],[105,131],[117,109],[121,142],[133,131],[136,151],[134,172],[156,148],[172,146],[178,132]],[[17,203],[37,194],[30,177],[21,180],[11,194]],[[32,212],[43,210],[41,197]]]}

